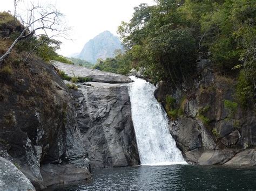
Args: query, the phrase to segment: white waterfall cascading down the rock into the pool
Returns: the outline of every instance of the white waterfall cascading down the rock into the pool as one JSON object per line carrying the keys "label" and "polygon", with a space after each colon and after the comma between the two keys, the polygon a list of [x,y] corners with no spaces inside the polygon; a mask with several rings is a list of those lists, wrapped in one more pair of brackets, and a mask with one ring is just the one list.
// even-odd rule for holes
{"label": "white waterfall cascading down the rock into the pool", "polygon": [[172,138],[165,111],[154,97],[156,87],[130,76],[132,121],[142,165],[186,164]]}

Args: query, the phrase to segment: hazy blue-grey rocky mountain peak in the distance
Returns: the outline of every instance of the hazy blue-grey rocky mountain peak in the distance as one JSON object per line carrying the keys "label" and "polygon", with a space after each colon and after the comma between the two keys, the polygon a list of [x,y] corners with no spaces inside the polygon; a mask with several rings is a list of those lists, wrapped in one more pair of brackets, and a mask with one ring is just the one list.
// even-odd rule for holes
{"label": "hazy blue-grey rocky mountain peak in the distance", "polygon": [[105,60],[106,58],[114,57],[116,49],[122,49],[119,38],[109,31],[104,31],[84,45],[78,58],[96,63],[99,58]]}

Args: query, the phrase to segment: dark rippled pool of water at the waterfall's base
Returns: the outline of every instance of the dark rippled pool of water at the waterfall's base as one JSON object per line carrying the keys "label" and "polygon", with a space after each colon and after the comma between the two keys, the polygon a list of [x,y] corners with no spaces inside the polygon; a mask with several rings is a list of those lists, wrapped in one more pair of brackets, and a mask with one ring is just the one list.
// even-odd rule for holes
{"label": "dark rippled pool of water at the waterfall's base", "polygon": [[[53,190],[256,190],[255,167],[134,166],[95,169],[92,181]],[[52,190],[51,189],[51,190]]]}

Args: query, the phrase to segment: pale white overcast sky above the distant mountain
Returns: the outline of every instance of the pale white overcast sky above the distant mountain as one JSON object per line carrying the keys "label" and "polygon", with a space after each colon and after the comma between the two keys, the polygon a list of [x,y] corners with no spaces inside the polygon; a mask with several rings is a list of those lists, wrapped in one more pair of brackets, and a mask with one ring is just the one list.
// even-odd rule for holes
{"label": "pale white overcast sky above the distant mountain", "polygon": [[[14,12],[13,0],[0,0],[0,11]],[[60,54],[68,56],[80,52],[84,44],[100,32],[109,30],[117,34],[117,27],[132,17],[134,6],[140,3],[153,4],[153,0],[21,0],[19,10],[24,10],[30,2],[33,4],[53,4],[64,13],[65,24],[72,27],[69,38],[62,39]]]}

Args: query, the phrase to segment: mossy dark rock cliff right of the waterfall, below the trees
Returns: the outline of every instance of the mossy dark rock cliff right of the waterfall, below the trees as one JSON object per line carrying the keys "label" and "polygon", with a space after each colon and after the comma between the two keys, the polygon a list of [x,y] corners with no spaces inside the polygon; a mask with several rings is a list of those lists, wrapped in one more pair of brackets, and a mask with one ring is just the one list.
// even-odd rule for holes
{"label": "mossy dark rock cliff right of the waterfall, below the trees", "polygon": [[[199,76],[193,92],[186,96],[181,89],[172,89],[160,82],[155,92],[166,105],[166,96],[176,99],[176,107],[183,111],[171,122],[170,132],[187,161],[201,165],[255,165],[256,118],[254,111],[228,108],[225,100],[234,101],[235,82],[214,73],[211,61],[200,58]],[[244,152],[251,147],[250,152]],[[247,150],[246,150],[247,151]],[[234,157],[234,158],[233,158]],[[233,159],[232,159],[233,158]],[[238,158],[238,159],[235,159]]]}

